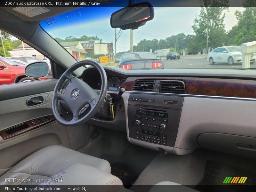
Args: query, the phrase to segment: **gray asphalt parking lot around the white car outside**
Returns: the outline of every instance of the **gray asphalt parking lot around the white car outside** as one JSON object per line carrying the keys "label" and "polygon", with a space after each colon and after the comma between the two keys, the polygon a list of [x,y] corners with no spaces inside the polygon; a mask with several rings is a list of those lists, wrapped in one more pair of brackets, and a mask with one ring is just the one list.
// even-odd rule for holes
{"label": "gray asphalt parking lot around the white car outside", "polygon": [[[164,69],[177,69],[177,68],[227,68],[227,69],[239,69],[242,68],[242,64],[228,65],[228,63],[215,63],[210,65],[207,59],[175,59],[166,60],[161,58],[164,63]],[[256,63],[251,63],[250,68],[256,68]]]}

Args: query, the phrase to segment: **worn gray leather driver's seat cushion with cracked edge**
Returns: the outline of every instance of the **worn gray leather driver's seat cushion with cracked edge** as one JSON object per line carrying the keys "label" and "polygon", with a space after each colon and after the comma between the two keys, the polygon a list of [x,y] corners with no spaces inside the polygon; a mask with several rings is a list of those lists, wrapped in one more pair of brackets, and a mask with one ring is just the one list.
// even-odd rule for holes
{"label": "worn gray leather driver's seat cushion with cracked edge", "polygon": [[[61,178],[60,185],[120,185],[122,181],[110,174],[108,161],[85,155],[61,146],[42,148],[0,177],[4,185],[29,185],[36,179]],[[20,180],[6,180],[16,177]],[[21,181],[25,180],[25,183]],[[40,183],[32,183],[38,185]],[[50,184],[50,183],[47,183]],[[58,183],[54,183],[56,185]],[[45,183],[44,183],[45,185]]]}

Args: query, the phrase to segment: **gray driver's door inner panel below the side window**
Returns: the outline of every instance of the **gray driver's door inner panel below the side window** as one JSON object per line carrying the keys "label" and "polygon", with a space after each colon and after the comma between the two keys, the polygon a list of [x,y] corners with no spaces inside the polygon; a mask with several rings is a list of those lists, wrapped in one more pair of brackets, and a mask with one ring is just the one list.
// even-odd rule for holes
{"label": "gray driver's door inner panel below the side window", "polygon": [[[0,131],[8,132],[13,126],[52,115],[52,93],[57,80],[0,85]],[[26,101],[35,97],[43,102],[29,107]],[[49,145],[71,148],[68,128],[55,120],[28,132],[24,131],[26,128],[22,129],[13,129],[15,136],[12,138],[0,137],[0,176],[40,148]]]}

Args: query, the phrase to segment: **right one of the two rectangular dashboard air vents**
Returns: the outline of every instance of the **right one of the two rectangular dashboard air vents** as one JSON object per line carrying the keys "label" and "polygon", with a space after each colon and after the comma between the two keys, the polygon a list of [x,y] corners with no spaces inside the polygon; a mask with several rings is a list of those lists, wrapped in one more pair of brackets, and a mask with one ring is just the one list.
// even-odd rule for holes
{"label": "right one of the two rectangular dashboard air vents", "polygon": [[185,84],[182,81],[161,81],[160,92],[185,94]]}

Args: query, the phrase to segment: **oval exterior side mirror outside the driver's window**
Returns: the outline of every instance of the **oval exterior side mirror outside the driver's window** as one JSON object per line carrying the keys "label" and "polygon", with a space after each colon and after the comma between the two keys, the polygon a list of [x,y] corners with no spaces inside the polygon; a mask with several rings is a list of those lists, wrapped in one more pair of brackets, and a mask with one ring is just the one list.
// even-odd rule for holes
{"label": "oval exterior side mirror outside the driver's window", "polygon": [[25,68],[25,74],[33,78],[41,78],[47,76],[49,73],[49,66],[46,62],[39,61],[30,63]]}

